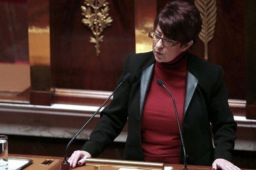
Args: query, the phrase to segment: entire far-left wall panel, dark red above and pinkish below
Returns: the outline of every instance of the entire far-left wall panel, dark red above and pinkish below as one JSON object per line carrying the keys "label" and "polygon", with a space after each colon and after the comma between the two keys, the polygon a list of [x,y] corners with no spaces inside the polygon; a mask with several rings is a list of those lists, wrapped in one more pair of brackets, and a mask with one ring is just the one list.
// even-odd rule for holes
{"label": "entire far-left wall panel, dark red above and pinkish below", "polygon": [[0,102],[29,102],[27,10],[26,0],[0,0]]}

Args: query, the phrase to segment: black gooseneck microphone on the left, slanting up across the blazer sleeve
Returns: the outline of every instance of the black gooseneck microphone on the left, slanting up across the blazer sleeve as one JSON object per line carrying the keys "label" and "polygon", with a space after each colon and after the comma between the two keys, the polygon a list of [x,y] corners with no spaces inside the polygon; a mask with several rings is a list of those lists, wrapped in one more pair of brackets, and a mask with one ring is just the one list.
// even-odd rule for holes
{"label": "black gooseneck microphone on the left, slanting up across the blazer sleeve", "polygon": [[76,135],[70,140],[70,142],[67,144],[67,147],[65,149],[64,152],[64,161],[61,163],[61,168],[60,170],[70,170],[70,163],[67,161],[67,150],[70,146],[70,144],[73,142],[73,140],[76,139],[76,136],[79,135],[79,133],[84,129],[84,127],[86,127],[86,125],[93,119],[93,117],[99,112],[99,110],[106,104],[106,102],[108,102],[108,100],[111,98],[111,96],[113,96],[113,94],[116,92],[116,90],[120,87],[120,85],[122,85],[123,82],[129,80],[131,77],[131,73],[127,73],[123,79],[122,82],[119,83],[119,85],[115,88],[115,90],[113,91],[113,93],[108,96],[108,99],[105,100],[105,102],[98,108],[98,110],[90,117],[90,119],[84,124],[84,126],[76,133]]}

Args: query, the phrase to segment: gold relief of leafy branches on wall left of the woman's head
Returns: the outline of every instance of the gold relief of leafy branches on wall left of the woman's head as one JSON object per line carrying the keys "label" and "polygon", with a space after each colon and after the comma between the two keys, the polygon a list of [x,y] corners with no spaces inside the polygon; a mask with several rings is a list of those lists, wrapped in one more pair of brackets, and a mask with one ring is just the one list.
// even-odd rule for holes
{"label": "gold relief of leafy branches on wall left of the woman's head", "polygon": [[111,26],[113,19],[109,16],[107,0],[84,0],[85,6],[81,6],[82,23],[93,32],[94,37],[90,37],[91,43],[95,44],[96,55],[99,56],[99,42],[103,42],[102,32],[104,28]]}

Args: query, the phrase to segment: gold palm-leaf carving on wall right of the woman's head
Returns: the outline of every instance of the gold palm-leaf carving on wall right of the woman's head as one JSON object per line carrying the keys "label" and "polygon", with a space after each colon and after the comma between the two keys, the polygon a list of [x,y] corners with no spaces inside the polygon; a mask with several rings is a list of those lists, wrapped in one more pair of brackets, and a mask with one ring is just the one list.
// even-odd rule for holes
{"label": "gold palm-leaf carving on wall right of the woman's head", "polygon": [[217,7],[215,0],[195,0],[195,6],[198,8],[203,21],[202,30],[199,38],[204,42],[204,59],[208,60],[208,42],[212,40],[217,16]]}

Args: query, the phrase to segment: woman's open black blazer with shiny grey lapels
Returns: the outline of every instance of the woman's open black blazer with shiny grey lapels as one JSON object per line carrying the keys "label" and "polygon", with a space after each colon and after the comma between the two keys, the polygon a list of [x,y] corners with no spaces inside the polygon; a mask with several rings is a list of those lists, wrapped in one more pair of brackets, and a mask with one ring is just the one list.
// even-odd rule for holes
{"label": "woman's open black blazer with shiny grey lapels", "polygon": [[[236,122],[227,102],[223,70],[221,66],[205,62],[190,53],[186,55],[188,71],[182,134],[187,163],[211,165],[217,158],[231,161]],[[111,104],[101,112],[101,119],[82,150],[93,157],[99,155],[119,135],[128,120],[124,159],[144,161],[140,123],[154,63],[152,51],[128,56],[119,82],[127,73],[131,73],[131,79],[120,86]],[[180,163],[183,163],[183,152],[180,153]]]}

